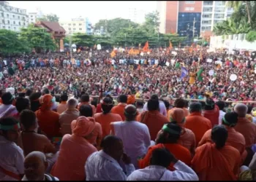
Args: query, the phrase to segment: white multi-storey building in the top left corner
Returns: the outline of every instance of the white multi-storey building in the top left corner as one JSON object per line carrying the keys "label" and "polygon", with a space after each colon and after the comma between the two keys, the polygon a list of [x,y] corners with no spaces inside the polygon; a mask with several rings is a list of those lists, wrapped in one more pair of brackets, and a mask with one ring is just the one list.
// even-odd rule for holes
{"label": "white multi-storey building in the top left corner", "polygon": [[0,1],[0,29],[20,31],[28,24],[26,9],[11,7],[7,1]]}

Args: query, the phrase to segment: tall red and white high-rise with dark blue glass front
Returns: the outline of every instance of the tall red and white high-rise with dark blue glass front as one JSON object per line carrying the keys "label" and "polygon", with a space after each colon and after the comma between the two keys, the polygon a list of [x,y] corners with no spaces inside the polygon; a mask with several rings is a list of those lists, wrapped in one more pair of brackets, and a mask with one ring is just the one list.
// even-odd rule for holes
{"label": "tall red and white high-rise with dark blue glass front", "polygon": [[[180,36],[211,34],[214,24],[226,20],[233,10],[227,1],[157,1],[160,33],[178,33]],[[194,28],[194,31],[193,31]]]}

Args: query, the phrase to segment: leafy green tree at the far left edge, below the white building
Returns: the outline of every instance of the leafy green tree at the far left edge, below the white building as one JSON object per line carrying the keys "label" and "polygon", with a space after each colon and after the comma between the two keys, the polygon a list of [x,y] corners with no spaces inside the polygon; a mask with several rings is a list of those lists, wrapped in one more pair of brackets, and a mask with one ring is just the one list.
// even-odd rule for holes
{"label": "leafy green tree at the far left edge, below the white building", "polygon": [[2,55],[21,54],[31,51],[28,42],[20,39],[18,33],[9,30],[0,30],[0,52]]}

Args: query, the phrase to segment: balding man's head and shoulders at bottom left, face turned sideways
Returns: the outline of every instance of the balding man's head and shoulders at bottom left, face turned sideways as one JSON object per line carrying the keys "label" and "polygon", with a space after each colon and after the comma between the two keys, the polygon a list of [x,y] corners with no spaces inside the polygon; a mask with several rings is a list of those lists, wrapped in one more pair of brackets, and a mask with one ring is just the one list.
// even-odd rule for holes
{"label": "balding man's head and shoulders at bottom left, face turned sideways", "polygon": [[41,151],[32,151],[29,153],[24,162],[25,175],[22,181],[59,181],[58,178],[46,174],[48,168],[45,154]]}

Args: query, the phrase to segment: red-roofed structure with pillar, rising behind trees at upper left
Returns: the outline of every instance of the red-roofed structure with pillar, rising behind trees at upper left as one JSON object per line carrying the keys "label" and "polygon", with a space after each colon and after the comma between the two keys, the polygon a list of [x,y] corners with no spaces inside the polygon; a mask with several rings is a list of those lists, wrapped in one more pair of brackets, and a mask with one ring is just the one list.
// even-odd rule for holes
{"label": "red-roofed structure with pillar, rising behind trees at upper left", "polygon": [[60,52],[64,52],[64,37],[65,37],[65,29],[59,25],[58,22],[48,22],[48,21],[39,21],[34,24],[37,27],[45,28],[48,33],[51,33],[52,38],[56,41],[57,46],[59,47]]}

